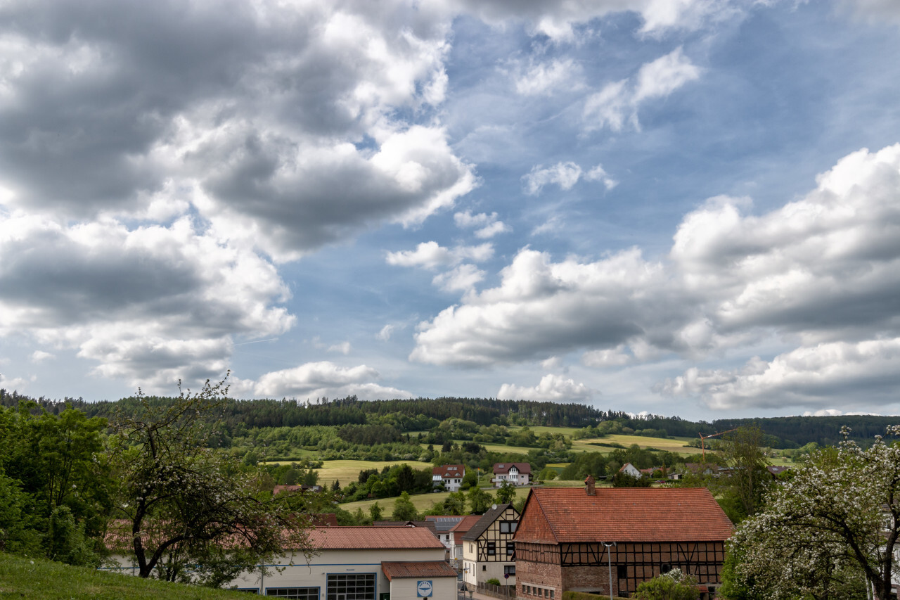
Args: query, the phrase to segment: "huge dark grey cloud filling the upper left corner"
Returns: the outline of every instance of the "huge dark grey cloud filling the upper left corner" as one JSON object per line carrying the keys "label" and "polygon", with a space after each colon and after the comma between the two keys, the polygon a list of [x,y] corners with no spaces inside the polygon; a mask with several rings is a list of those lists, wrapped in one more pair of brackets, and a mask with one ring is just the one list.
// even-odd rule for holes
{"label": "huge dark grey cloud filling the upper left corner", "polygon": [[277,260],[421,223],[475,178],[429,112],[450,17],[403,8],[8,3],[4,204],[76,220],[193,207]]}

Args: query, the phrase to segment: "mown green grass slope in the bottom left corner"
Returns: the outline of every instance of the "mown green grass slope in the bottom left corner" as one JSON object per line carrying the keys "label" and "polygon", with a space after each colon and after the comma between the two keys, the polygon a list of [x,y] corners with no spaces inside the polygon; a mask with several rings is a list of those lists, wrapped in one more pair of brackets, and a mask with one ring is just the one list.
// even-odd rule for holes
{"label": "mown green grass slope in the bottom left corner", "polygon": [[226,600],[244,598],[239,592],[185,586],[156,579],[109,573],[95,568],[70,567],[40,559],[0,553],[0,598],[34,600]]}

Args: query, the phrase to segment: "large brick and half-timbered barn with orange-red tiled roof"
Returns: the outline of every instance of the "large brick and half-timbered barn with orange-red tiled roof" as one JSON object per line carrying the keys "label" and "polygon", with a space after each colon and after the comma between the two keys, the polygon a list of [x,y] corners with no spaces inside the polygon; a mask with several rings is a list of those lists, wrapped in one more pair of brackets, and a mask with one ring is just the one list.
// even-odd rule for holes
{"label": "large brick and half-timbered barn with orange-red tiled roof", "polygon": [[630,595],[672,568],[715,593],[732,532],[702,487],[597,489],[588,477],[584,488],[532,488],[515,536],[516,594]]}

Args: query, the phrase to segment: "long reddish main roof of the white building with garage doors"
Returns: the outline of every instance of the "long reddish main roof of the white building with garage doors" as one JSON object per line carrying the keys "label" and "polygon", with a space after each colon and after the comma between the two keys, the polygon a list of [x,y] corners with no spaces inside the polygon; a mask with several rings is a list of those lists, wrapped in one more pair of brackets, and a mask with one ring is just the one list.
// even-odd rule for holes
{"label": "long reddish main roof of the white building with garage doors", "polygon": [[327,527],[310,532],[322,550],[444,550],[444,544],[422,527]]}

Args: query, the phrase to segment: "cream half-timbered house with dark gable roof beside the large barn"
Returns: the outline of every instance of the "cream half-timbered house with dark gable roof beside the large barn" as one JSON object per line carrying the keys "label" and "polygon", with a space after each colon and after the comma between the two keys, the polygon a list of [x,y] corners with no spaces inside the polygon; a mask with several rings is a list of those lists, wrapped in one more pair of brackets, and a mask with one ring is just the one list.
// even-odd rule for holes
{"label": "cream half-timbered house with dark gable roof beside the large barn", "polygon": [[513,536],[518,511],[512,505],[493,505],[463,535],[463,581],[469,589],[497,578],[516,585],[516,547]]}

